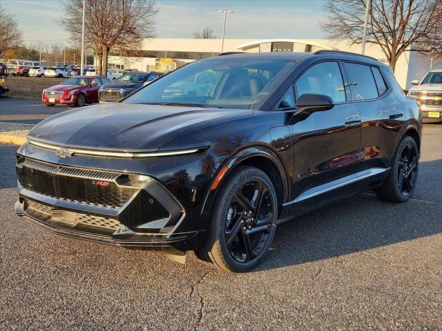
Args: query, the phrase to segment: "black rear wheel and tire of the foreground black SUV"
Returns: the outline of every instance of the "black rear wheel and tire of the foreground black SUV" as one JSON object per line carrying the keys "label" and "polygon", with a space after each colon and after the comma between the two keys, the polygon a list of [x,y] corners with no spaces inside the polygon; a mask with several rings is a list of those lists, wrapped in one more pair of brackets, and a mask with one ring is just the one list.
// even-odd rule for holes
{"label": "black rear wheel and tire of the foreground black SUV", "polygon": [[376,196],[385,201],[403,203],[410,199],[416,188],[419,172],[419,150],[412,137],[403,137],[396,150],[390,175],[381,188],[376,188]]}

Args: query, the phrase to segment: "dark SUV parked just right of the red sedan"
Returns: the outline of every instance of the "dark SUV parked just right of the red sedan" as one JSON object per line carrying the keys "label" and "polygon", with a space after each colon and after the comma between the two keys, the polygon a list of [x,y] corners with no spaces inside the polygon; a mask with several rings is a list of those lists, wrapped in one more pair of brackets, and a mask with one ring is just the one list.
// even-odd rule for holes
{"label": "dark SUV parked just right of the red sedan", "polygon": [[110,85],[99,89],[99,102],[115,102],[162,76],[162,72],[127,72]]}

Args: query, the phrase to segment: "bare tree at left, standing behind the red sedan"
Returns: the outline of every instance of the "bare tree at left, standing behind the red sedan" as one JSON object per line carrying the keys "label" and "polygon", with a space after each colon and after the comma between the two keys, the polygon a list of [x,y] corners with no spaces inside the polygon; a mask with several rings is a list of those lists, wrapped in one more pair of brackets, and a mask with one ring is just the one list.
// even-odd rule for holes
{"label": "bare tree at left, standing behind the red sedan", "polygon": [[[61,3],[66,16],[60,23],[75,39],[81,35],[82,3]],[[153,37],[156,13],[155,0],[86,1],[86,44],[95,50],[100,74],[106,76],[111,50],[140,47],[144,39]]]}

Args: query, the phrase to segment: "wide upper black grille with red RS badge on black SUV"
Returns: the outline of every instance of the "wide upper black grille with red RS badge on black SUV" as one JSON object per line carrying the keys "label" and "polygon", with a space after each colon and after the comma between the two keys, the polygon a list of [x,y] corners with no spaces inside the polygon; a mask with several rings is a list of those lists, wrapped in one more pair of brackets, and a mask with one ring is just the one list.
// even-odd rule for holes
{"label": "wide upper black grille with red RS badge on black SUV", "polygon": [[[26,159],[23,168],[17,168],[19,182],[27,190],[102,208],[122,208],[137,192],[117,185],[113,180],[118,176],[113,172],[66,167],[32,159]],[[106,185],[100,185],[103,182]]]}

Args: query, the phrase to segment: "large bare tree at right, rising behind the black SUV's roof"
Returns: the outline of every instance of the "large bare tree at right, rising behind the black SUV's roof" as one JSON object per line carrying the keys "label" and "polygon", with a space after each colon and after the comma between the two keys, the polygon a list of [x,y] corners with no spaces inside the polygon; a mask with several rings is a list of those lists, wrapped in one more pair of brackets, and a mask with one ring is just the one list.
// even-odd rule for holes
{"label": "large bare tree at right, rising behind the black SUV's roof", "polygon": [[[321,26],[328,37],[361,43],[366,1],[327,0],[324,9],[329,14]],[[441,24],[441,0],[372,0],[367,43],[376,43],[394,70],[398,57],[412,46],[440,49]]]}

